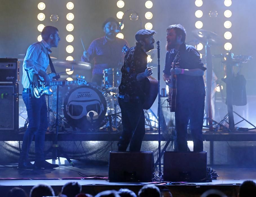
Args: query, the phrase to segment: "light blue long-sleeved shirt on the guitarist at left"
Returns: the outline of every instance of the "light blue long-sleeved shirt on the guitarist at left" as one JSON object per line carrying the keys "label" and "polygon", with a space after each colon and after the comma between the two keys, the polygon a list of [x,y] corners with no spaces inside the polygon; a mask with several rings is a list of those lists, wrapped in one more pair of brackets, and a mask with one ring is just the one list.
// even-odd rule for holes
{"label": "light blue long-sleeved shirt on the guitarist at left", "polygon": [[[23,62],[23,88],[29,88],[30,83],[28,75],[30,77],[30,80],[33,81],[34,74],[37,74],[40,70],[46,71],[49,65],[49,50],[49,45],[44,40],[42,40],[41,42],[35,42],[28,47]],[[28,70],[28,75],[26,70]]]}

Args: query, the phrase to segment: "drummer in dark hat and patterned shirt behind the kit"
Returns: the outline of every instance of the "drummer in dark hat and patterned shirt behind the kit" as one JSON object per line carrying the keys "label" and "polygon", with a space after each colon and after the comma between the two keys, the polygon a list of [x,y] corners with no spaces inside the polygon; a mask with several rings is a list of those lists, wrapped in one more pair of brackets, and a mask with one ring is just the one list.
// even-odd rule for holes
{"label": "drummer in dark hat and patterned shirt behind the kit", "polygon": [[119,68],[123,66],[124,54],[122,48],[127,41],[117,38],[119,23],[114,18],[108,18],[102,24],[105,36],[98,38],[90,44],[87,51],[83,52],[81,61],[90,62],[94,59],[92,82],[102,86],[103,70],[107,68]]}

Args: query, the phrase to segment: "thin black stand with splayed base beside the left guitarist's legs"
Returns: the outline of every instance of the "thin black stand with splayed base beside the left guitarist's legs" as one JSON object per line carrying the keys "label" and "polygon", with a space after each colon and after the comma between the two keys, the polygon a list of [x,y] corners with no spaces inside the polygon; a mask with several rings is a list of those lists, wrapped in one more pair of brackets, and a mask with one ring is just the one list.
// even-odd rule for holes
{"label": "thin black stand with splayed base beside the left guitarist's legs", "polygon": [[[49,103],[49,101],[48,101]],[[52,147],[46,151],[45,154],[52,152],[52,163],[55,164],[55,160],[58,157],[59,164],[60,164],[60,154],[63,154],[63,156],[68,160],[70,165],[73,167],[75,166],[74,163],[70,160],[70,158],[66,155],[66,153],[62,150],[61,146],[58,144],[58,129],[59,129],[59,86],[57,86],[57,99],[56,99],[56,132],[55,132],[55,138],[54,138],[54,144]]]}

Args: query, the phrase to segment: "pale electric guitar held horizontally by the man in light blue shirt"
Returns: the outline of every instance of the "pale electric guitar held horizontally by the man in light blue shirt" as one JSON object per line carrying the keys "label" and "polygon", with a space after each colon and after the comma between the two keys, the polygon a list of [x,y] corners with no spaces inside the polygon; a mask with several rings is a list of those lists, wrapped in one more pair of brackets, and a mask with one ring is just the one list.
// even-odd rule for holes
{"label": "pale electric guitar held horizontally by the man in light blue shirt", "polygon": [[32,77],[32,85],[30,86],[30,90],[31,90],[31,95],[33,98],[40,98],[43,95],[52,95],[52,91],[50,89],[51,86],[64,86],[64,85],[69,85],[69,84],[84,84],[86,85],[87,82],[86,80],[84,80],[84,76],[79,76],[77,75],[77,80],[75,81],[66,81],[66,80],[52,80],[53,77],[56,76],[55,73],[49,73],[48,74],[49,78],[50,78],[50,83],[49,86],[45,86],[44,81],[41,77],[39,77],[39,75],[34,74]]}

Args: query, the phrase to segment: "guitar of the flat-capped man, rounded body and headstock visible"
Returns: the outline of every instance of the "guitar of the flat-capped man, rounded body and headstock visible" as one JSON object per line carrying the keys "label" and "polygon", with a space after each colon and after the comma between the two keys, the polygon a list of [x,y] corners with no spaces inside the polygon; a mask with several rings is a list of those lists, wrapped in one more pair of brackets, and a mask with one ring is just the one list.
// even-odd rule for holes
{"label": "guitar of the flat-capped man, rounded body and headstock visible", "polygon": [[[126,52],[129,50],[127,45],[124,45],[123,47],[123,53],[126,54]],[[155,102],[155,99],[158,94],[158,81],[152,77],[148,76],[145,78],[143,92],[145,94],[143,109],[149,109]]]}

